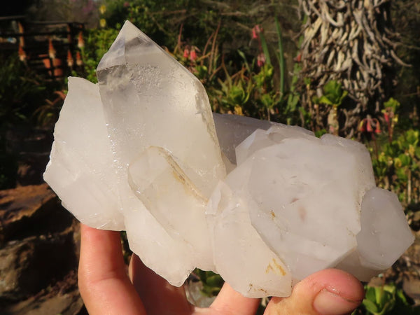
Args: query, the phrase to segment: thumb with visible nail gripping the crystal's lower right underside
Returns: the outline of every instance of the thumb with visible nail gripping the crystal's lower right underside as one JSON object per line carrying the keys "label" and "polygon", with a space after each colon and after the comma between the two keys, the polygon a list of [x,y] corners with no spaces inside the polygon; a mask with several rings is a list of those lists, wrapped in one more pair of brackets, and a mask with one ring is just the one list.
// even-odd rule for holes
{"label": "thumb with visible nail gripping the crystal's lower right underside", "polygon": [[348,314],[363,296],[363,286],[354,276],[325,269],[297,283],[290,297],[273,297],[265,314]]}

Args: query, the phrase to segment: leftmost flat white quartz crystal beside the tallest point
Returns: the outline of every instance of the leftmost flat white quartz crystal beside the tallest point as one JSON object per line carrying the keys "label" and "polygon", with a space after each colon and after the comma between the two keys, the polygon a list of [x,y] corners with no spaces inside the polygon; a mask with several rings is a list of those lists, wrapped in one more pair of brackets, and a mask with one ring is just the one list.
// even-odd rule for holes
{"label": "leftmost flat white quartz crystal beside the tallest point", "polygon": [[99,87],[83,78],[69,78],[66,104],[71,106],[63,106],[59,113],[44,179],[80,222],[123,230]]}

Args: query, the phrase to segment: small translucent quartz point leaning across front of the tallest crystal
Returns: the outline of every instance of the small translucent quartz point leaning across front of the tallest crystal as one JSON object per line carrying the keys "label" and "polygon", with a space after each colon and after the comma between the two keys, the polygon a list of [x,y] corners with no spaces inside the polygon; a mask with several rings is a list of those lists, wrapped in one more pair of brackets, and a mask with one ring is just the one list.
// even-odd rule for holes
{"label": "small translucent quartz point leaning across front of the tallest crystal", "polygon": [[[201,269],[214,269],[205,207],[207,198],[163,148],[149,147],[128,170],[128,181],[172,238],[184,244]],[[193,224],[192,224],[193,223]]]}

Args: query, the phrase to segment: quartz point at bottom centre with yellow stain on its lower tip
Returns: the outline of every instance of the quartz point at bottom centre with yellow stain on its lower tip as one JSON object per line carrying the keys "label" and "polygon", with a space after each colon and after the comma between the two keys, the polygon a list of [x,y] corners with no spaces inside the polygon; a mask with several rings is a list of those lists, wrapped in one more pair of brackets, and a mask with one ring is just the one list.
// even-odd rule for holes
{"label": "quartz point at bottom centre with yellow stain on its lower tip", "polygon": [[207,217],[217,272],[247,297],[290,295],[291,273],[251,228],[246,202],[223,182],[215,192]]}

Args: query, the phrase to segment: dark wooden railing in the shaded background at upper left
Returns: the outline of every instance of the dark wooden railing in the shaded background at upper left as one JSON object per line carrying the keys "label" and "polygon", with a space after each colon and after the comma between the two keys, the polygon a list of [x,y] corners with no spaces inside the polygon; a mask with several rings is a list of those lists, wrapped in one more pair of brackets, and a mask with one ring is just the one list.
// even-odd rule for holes
{"label": "dark wooden railing in the shaded background at upper left", "polygon": [[27,66],[48,78],[68,76],[83,67],[83,23],[28,22],[25,16],[0,17],[0,54],[18,52]]}

